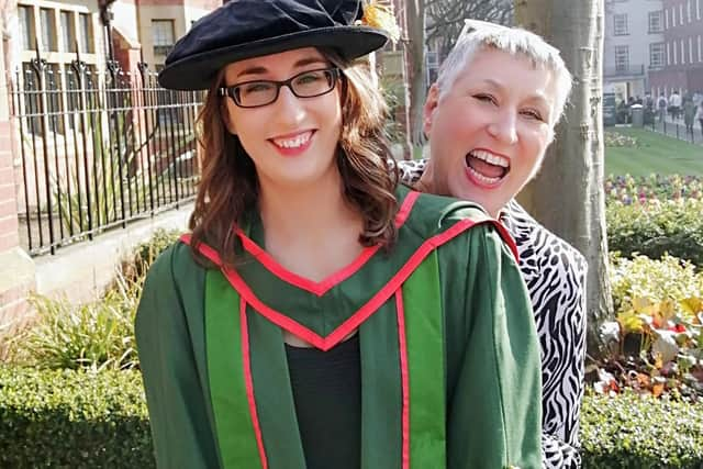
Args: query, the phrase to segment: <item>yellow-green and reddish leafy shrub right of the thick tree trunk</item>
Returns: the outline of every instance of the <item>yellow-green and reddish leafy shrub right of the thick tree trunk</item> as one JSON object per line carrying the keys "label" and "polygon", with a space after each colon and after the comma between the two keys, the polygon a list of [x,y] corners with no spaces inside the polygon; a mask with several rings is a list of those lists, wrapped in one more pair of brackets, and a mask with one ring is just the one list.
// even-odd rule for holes
{"label": "yellow-green and reddish leafy shrub right of the thick tree trunk", "polygon": [[616,321],[600,327],[611,355],[593,362],[593,389],[703,398],[703,273],[668,255],[613,256],[610,273]]}

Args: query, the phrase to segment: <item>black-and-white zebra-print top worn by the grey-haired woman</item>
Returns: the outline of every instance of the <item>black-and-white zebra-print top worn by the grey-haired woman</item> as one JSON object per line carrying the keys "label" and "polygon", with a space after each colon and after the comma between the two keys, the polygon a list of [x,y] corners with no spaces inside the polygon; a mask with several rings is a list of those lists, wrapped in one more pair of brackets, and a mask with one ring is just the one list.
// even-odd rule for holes
{"label": "black-and-white zebra-print top worn by the grey-haired woman", "polygon": [[[413,185],[426,160],[398,161],[401,180]],[[543,468],[578,469],[579,414],[585,358],[583,256],[512,200],[500,216],[520,253],[542,348]]]}

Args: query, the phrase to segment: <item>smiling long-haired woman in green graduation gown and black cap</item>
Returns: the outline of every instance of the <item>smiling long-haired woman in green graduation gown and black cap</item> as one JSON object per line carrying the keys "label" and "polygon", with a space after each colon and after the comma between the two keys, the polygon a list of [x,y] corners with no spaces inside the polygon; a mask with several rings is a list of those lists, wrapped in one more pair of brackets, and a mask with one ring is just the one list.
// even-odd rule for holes
{"label": "smiling long-haired woman in green graduation gown and black cap", "polygon": [[191,233],[136,319],[159,468],[538,468],[539,353],[504,228],[397,186],[358,0],[234,0],[159,82],[209,90]]}

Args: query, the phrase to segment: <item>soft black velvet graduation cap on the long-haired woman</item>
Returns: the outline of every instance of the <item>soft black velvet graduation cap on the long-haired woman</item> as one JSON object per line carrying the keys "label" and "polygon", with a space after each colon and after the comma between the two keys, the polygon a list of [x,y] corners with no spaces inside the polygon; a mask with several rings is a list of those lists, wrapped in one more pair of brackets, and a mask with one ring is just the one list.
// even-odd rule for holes
{"label": "soft black velvet graduation cap on the long-haired woman", "polygon": [[198,20],[166,57],[164,88],[209,89],[232,62],[300,47],[330,47],[353,59],[382,47],[388,34],[356,24],[360,0],[231,0]]}

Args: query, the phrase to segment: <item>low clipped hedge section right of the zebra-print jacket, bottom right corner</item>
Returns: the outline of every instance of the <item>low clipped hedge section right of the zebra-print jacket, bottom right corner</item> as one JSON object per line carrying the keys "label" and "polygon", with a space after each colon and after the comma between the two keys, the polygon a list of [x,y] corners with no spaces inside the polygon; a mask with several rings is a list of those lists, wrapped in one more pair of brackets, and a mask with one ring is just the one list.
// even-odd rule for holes
{"label": "low clipped hedge section right of the zebra-print jacket, bottom right corner", "polygon": [[587,395],[584,469],[703,467],[703,404],[624,393]]}

